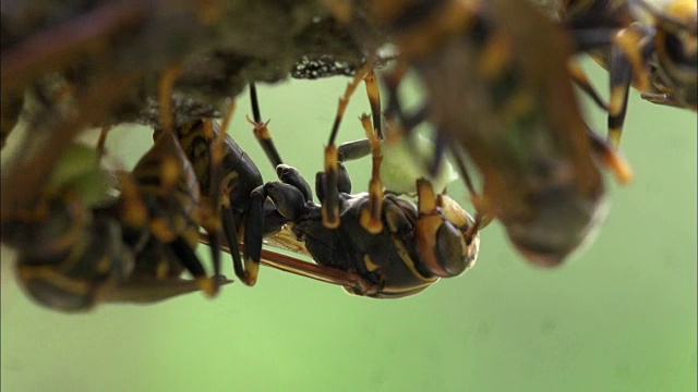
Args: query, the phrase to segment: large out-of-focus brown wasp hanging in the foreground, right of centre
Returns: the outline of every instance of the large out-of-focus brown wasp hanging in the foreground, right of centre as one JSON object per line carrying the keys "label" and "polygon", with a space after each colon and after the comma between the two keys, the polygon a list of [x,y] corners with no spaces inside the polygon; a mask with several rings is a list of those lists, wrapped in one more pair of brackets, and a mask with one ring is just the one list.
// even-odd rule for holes
{"label": "large out-of-focus brown wasp hanging in the foreground, right of centre", "polygon": [[[382,0],[361,7],[398,48],[396,70],[384,75],[388,113],[407,132],[423,122],[434,127],[441,146],[435,161],[446,148],[457,160],[469,157],[482,175],[476,201],[484,221],[498,218],[532,262],[559,265],[605,217],[597,158],[629,180],[581,117],[563,28],[526,1]],[[412,112],[398,95],[408,71],[424,86],[423,105]]]}

